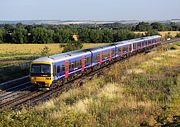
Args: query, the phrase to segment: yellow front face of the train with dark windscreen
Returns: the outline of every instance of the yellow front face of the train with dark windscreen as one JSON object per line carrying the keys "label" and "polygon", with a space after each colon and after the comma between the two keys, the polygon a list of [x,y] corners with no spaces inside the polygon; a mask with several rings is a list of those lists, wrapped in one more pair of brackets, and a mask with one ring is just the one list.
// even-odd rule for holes
{"label": "yellow front face of the train with dark windscreen", "polygon": [[39,89],[48,90],[53,81],[51,62],[33,62],[30,68],[30,80]]}

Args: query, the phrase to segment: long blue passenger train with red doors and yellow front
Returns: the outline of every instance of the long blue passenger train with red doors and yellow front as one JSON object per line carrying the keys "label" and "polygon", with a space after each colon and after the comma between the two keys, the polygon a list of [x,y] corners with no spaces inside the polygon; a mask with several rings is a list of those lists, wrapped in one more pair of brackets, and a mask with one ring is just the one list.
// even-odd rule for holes
{"label": "long blue passenger train with red doors and yellow front", "polygon": [[51,90],[114,61],[147,51],[160,44],[161,36],[154,35],[40,57],[31,63],[30,80],[40,90]]}

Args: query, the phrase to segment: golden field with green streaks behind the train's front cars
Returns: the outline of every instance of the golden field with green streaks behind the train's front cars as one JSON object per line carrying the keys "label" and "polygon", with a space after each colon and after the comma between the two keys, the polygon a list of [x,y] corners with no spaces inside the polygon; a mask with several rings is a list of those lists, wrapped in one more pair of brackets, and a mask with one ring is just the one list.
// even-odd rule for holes
{"label": "golden field with green streaks behind the train's front cars", "polygon": [[[83,48],[90,48],[104,45],[105,43],[85,43]],[[23,63],[40,57],[43,48],[49,48],[49,54],[61,53],[63,48],[59,44],[0,44],[0,63],[1,67],[5,64],[11,65]]]}

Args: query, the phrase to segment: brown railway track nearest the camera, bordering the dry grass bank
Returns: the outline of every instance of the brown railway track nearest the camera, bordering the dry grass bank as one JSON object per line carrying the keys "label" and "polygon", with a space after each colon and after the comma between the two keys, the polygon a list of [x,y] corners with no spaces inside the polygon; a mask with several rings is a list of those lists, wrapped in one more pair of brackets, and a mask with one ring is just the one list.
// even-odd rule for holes
{"label": "brown railway track nearest the camera, bordering the dry grass bank", "polygon": [[[110,65],[103,67],[103,69],[108,69],[108,66]],[[0,112],[6,109],[21,110],[23,107],[34,106],[52,97],[57,97],[62,92],[67,91],[72,87],[76,87],[77,85],[81,85],[82,82],[84,82],[84,80],[92,79],[92,76],[100,74],[100,72],[102,71],[103,71],[102,69],[98,69],[92,73],[84,75],[83,77],[78,77],[73,81],[69,81],[64,85],[62,85],[61,87],[58,87],[53,90],[49,90],[49,91],[34,90],[33,92],[21,94],[20,96],[15,97],[11,100],[5,101],[4,103],[0,103]]]}

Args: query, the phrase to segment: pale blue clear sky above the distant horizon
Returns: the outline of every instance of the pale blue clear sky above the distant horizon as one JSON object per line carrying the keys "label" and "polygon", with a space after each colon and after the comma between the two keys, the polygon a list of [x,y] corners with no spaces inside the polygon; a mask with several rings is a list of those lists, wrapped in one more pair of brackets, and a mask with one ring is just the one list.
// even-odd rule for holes
{"label": "pale blue clear sky above the distant horizon", "polygon": [[180,0],[0,0],[0,20],[180,19]]}

